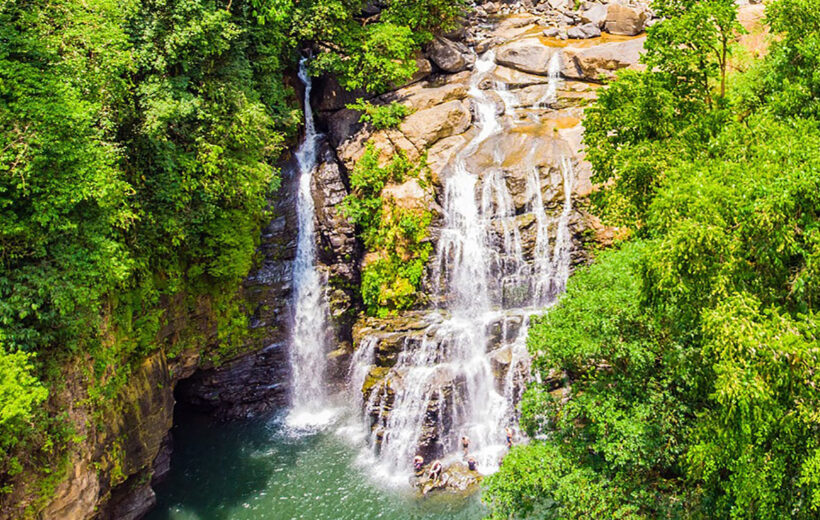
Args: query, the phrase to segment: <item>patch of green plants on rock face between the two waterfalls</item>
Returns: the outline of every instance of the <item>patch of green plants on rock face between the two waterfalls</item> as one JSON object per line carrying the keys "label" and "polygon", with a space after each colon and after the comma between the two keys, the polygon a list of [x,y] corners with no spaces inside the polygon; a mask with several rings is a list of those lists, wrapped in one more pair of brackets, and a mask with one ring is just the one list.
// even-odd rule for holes
{"label": "patch of green plants on rock face between the two waterfalls", "polygon": [[427,240],[432,213],[423,207],[400,207],[383,197],[382,190],[388,182],[420,178],[424,163],[422,159],[414,165],[399,153],[381,166],[378,151],[368,143],[350,175],[352,193],[344,201],[344,211],[367,250],[376,254],[362,271],[362,300],[370,315],[411,308],[421,297],[418,290],[432,251]]}

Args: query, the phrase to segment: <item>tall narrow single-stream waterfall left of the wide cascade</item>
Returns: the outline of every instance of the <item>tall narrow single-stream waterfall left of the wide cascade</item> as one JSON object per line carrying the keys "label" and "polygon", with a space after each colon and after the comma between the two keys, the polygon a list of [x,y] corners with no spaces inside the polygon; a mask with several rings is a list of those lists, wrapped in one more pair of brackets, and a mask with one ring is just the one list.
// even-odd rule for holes
{"label": "tall narrow single-stream waterfall left of the wide cascade", "polygon": [[315,209],[310,186],[316,169],[319,135],[310,107],[312,83],[304,58],[299,62],[299,79],[305,85],[305,137],[296,151],[299,231],[293,266],[291,412],[288,423],[296,428],[305,428],[327,420],[325,369],[328,349],[325,341],[327,306],[323,280],[316,269]]}

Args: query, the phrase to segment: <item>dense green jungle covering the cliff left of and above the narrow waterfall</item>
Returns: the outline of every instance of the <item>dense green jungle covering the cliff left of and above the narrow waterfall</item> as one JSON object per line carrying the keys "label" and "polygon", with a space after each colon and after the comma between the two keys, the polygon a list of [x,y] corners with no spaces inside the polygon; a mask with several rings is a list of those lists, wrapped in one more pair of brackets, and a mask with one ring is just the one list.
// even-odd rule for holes
{"label": "dense green jungle covering the cliff left of and above the narrow waterfall", "polygon": [[209,298],[217,356],[241,348],[236,293],[301,120],[300,52],[376,93],[463,8],[385,4],[0,5],[0,499],[24,471],[42,496],[59,478],[76,440],[54,399],[66,363],[89,361],[82,404],[102,406],[161,348],[172,297]]}

